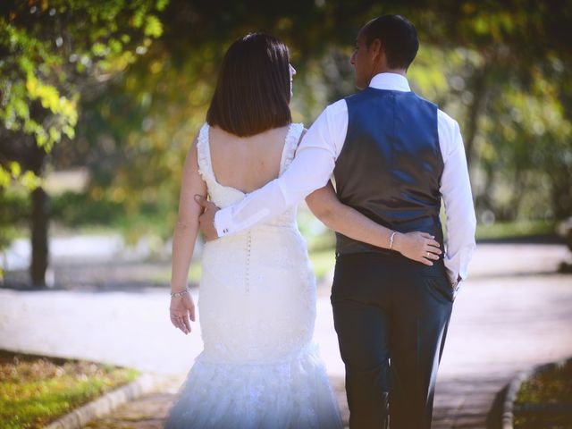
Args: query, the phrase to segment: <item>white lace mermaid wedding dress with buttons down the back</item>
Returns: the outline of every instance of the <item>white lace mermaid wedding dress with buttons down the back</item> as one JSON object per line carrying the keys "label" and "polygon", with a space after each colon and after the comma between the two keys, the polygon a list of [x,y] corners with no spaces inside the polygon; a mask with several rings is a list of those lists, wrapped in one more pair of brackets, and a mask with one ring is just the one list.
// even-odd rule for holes
{"label": "white lace mermaid wedding dress with buttons down the back", "polygon": [[[208,124],[198,166],[210,198],[245,197],[214,177]],[[290,125],[280,173],[303,130]],[[340,411],[312,342],[315,276],[296,207],[248,231],[205,244],[198,314],[205,344],[169,411],[166,429],[341,428]]]}

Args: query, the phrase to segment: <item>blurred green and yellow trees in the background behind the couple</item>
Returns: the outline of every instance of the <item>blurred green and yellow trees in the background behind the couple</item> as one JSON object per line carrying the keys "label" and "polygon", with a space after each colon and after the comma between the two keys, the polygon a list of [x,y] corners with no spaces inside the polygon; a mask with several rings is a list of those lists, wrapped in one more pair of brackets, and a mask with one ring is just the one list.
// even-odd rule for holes
{"label": "blurred green and yellow trees in the background behind the couple", "polygon": [[[325,105],[355,91],[349,64],[353,40],[366,21],[383,13],[402,13],[416,25],[421,48],[408,78],[418,94],[458,120],[479,220],[486,225],[526,220],[551,224],[572,214],[569,1],[315,0],[277,6],[254,0],[171,0],[168,5],[92,3],[91,8],[72,3],[71,10],[94,13],[97,20],[109,18],[105,22],[114,24],[76,29],[68,20],[47,29],[41,23],[49,19],[50,9],[30,3],[37,11],[27,21],[38,23],[29,24],[27,31],[51,46],[50,54],[61,57],[44,60],[35,55],[35,64],[46,63],[51,71],[57,67],[50,64],[58,61],[70,65],[71,52],[77,52],[71,64],[88,55],[93,62],[90,75],[97,77],[94,84],[80,88],[74,84],[79,72],[74,70],[55,85],[60,97],[76,103],[80,115],[77,122],[68,117],[57,125],[65,136],[62,124],[70,124],[75,138],[63,137],[50,162],[55,169],[88,166],[88,198],[122,206],[124,219],[133,220],[131,227],[126,225],[132,234],[156,233],[159,228],[164,239],[171,235],[183,161],[205,120],[218,67],[234,39],[262,30],[290,46],[291,63],[298,71],[293,118],[309,126]],[[153,18],[135,19],[139,13]],[[105,29],[109,34],[101,36]],[[141,30],[142,39],[131,43]],[[63,38],[63,46],[75,40],[80,47],[58,51],[54,44],[62,31],[71,34]],[[122,41],[123,32],[130,42],[116,55],[111,48],[105,51],[114,45],[112,40]],[[160,37],[151,43],[155,36]],[[132,46],[141,55],[133,54]],[[96,53],[104,51],[113,59],[104,56],[101,67],[95,67]],[[9,62],[17,63],[17,57]],[[74,98],[78,93],[81,97]],[[60,112],[54,109],[52,116]],[[12,111],[18,112],[16,105]],[[152,206],[160,223],[135,222],[144,207]],[[94,216],[83,219],[95,222]]]}

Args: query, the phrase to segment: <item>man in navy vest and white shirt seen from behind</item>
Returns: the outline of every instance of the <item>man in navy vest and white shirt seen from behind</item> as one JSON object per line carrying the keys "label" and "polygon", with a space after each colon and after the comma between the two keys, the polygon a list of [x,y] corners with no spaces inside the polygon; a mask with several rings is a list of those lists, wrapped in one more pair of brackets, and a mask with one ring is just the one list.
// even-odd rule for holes
{"label": "man in navy vest and white shirt seen from behind", "polygon": [[206,240],[214,240],[311,193],[308,206],[329,224],[338,201],[324,185],[333,172],[342,203],[393,231],[429,232],[443,248],[443,199],[448,246],[432,266],[337,233],[331,299],[352,429],[387,427],[389,420],[391,429],[431,426],[450,313],[475,248],[458,123],[408,85],[417,48],[416,29],[400,15],[369,21],[351,57],[361,91],[326,107],[280,178],[234,206],[203,202],[200,219]]}

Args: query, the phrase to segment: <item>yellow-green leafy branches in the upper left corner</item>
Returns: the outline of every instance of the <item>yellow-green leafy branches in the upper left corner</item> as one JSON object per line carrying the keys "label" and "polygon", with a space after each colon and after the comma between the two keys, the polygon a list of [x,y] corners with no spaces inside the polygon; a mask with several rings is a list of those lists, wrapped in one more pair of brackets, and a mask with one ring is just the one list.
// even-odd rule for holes
{"label": "yellow-green leafy branches in the upper left corner", "polygon": [[[80,93],[144,54],[163,27],[164,0],[7,1],[0,6],[0,189],[34,189],[19,137],[49,153],[73,139]],[[24,139],[24,141],[29,139]],[[22,168],[22,165],[24,164]],[[36,170],[36,171],[34,171]]]}

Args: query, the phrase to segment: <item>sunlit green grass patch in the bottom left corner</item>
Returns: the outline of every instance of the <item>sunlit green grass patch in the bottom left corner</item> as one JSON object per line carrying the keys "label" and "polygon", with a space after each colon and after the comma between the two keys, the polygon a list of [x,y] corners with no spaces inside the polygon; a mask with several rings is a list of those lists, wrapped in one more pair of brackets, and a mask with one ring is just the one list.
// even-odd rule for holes
{"label": "sunlit green grass patch in the bottom left corner", "polygon": [[2,427],[43,427],[138,375],[131,368],[0,350]]}

